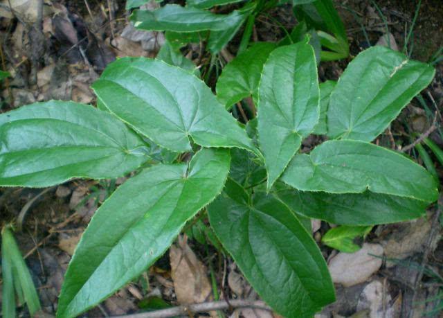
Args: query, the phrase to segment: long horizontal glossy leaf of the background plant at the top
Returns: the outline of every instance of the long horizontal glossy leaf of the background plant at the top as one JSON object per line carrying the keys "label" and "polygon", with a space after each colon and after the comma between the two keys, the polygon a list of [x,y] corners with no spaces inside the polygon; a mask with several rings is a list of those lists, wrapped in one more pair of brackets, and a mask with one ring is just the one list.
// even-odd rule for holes
{"label": "long horizontal glossy leaf of the background plant at the top", "polygon": [[237,26],[244,20],[244,14],[235,10],[228,15],[214,13],[194,7],[168,4],[154,11],[135,10],[131,21],[142,30],[195,32],[202,30],[219,31]]}

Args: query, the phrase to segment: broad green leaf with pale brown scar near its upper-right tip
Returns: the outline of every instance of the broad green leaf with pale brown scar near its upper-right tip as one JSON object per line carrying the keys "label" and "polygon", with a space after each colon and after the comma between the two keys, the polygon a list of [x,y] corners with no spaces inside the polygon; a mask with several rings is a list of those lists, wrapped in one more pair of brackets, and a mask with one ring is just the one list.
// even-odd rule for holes
{"label": "broad green leaf with pale brown scar near its upper-right tip", "polygon": [[372,46],[350,62],[327,110],[328,136],[372,141],[434,77],[433,67]]}

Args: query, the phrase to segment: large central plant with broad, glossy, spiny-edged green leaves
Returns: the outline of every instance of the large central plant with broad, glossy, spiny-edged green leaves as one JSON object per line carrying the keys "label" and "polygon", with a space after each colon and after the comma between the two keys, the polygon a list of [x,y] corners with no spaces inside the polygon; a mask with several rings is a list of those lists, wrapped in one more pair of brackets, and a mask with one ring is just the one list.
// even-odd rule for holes
{"label": "large central plant with broad, glossy, spiny-edged green leaves", "polygon": [[[257,46],[266,49],[248,58]],[[216,96],[192,71],[122,58],[93,84],[97,108],[52,100],[0,115],[0,184],[136,172],[84,231],[58,317],[80,315],[140,275],[201,209],[269,306],[312,317],[334,301],[334,285],[309,218],[400,222],[437,200],[422,166],[371,143],[433,76],[427,64],[375,46],[338,82],[319,83],[308,39],[257,43],[226,66]],[[257,117],[244,127],[226,109],[248,96]],[[310,134],[329,140],[301,153]]]}

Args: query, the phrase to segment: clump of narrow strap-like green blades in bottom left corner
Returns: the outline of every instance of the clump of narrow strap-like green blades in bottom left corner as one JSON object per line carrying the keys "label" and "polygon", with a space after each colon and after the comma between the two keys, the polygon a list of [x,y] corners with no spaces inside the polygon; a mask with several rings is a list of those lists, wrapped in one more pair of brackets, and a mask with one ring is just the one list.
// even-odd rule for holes
{"label": "clump of narrow strap-like green blades in bottom left corner", "polygon": [[16,317],[16,294],[19,303],[22,306],[26,303],[30,315],[34,315],[40,309],[37,290],[15,242],[10,225],[1,229],[1,274],[3,278],[1,314],[3,317]]}

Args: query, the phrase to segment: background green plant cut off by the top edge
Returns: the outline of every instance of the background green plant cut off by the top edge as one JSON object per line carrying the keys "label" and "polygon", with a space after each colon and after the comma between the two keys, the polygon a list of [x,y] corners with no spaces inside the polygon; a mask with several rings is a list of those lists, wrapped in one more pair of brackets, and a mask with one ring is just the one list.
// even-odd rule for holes
{"label": "background green plant cut off by the top edge", "polygon": [[[147,0],[127,1],[127,10],[138,8]],[[208,9],[230,3],[243,3],[244,6],[228,14],[215,14]],[[301,23],[289,32],[266,12],[271,8],[291,2],[293,11]],[[260,15],[275,21],[287,33],[287,42],[295,43],[301,35],[313,37],[311,44],[318,43],[318,61],[338,60],[349,55],[349,44],[343,23],[334,8],[332,0],[187,0],[186,6],[167,4],[154,11],[134,10],[131,20],[141,30],[165,30],[166,39],[175,51],[188,42],[201,42],[206,39],[210,53],[221,51],[235,34],[244,26],[238,53],[246,50],[255,19]],[[333,35],[330,35],[332,33]],[[288,43],[284,43],[288,44]],[[327,50],[321,51],[320,44]],[[321,51],[321,52],[320,52]]]}

